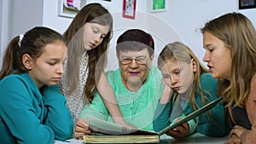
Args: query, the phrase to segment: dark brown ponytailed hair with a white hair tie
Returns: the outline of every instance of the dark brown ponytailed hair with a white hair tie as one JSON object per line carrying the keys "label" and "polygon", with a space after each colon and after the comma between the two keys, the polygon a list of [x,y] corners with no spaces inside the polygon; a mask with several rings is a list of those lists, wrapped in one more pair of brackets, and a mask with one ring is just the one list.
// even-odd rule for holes
{"label": "dark brown ponytailed hair with a white hair tie", "polygon": [[3,55],[0,80],[14,71],[16,73],[28,72],[29,70],[22,64],[22,56],[27,54],[36,60],[43,53],[44,46],[56,40],[64,43],[60,33],[42,26],[34,27],[25,35],[12,39]]}

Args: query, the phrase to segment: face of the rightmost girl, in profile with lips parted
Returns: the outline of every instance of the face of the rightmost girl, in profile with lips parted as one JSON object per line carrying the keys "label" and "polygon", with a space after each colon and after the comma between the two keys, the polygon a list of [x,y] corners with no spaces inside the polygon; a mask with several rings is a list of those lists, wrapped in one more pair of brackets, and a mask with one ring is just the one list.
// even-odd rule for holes
{"label": "face of the rightmost girl, in profile with lips parted", "polygon": [[206,54],[203,58],[207,62],[212,78],[230,79],[231,77],[231,55],[230,49],[224,43],[209,32],[203,34],[203,45]]}

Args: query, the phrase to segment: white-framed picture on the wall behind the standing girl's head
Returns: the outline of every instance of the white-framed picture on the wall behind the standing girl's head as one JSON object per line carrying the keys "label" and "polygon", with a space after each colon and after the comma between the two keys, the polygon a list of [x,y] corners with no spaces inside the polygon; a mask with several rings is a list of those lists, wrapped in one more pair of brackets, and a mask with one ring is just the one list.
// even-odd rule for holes
{"label": "white-framed picture on the wall behind the standing girl's head", "polygon": [[74,18],[86,5],[86,0],[58,0],[58,16]]}

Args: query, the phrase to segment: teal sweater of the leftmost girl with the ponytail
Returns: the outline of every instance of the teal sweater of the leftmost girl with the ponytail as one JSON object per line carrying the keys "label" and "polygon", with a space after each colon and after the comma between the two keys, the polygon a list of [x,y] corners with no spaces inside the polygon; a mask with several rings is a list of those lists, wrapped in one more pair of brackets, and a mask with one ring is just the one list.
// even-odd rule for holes
{"label": "teal sweater of the leftmost girl with the ponytail", "polygon": [[49,144],[73,135],[73,119],[57,86],[38,89],[28,73],[0,81],[1,143]]}

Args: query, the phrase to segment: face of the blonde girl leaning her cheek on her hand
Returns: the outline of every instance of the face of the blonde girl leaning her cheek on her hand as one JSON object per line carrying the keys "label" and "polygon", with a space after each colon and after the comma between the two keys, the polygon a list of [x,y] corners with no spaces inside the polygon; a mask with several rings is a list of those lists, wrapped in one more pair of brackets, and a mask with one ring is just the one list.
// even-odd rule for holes
{"label": "face of the blonde girl leaning her cheek on her hand", "polygon": [[195,67],[190,64],[177,60],[165,61],[165,66],[160,68],[163,75],[163,82],[177,93],[183,94],[191,88],[194,80]]}

